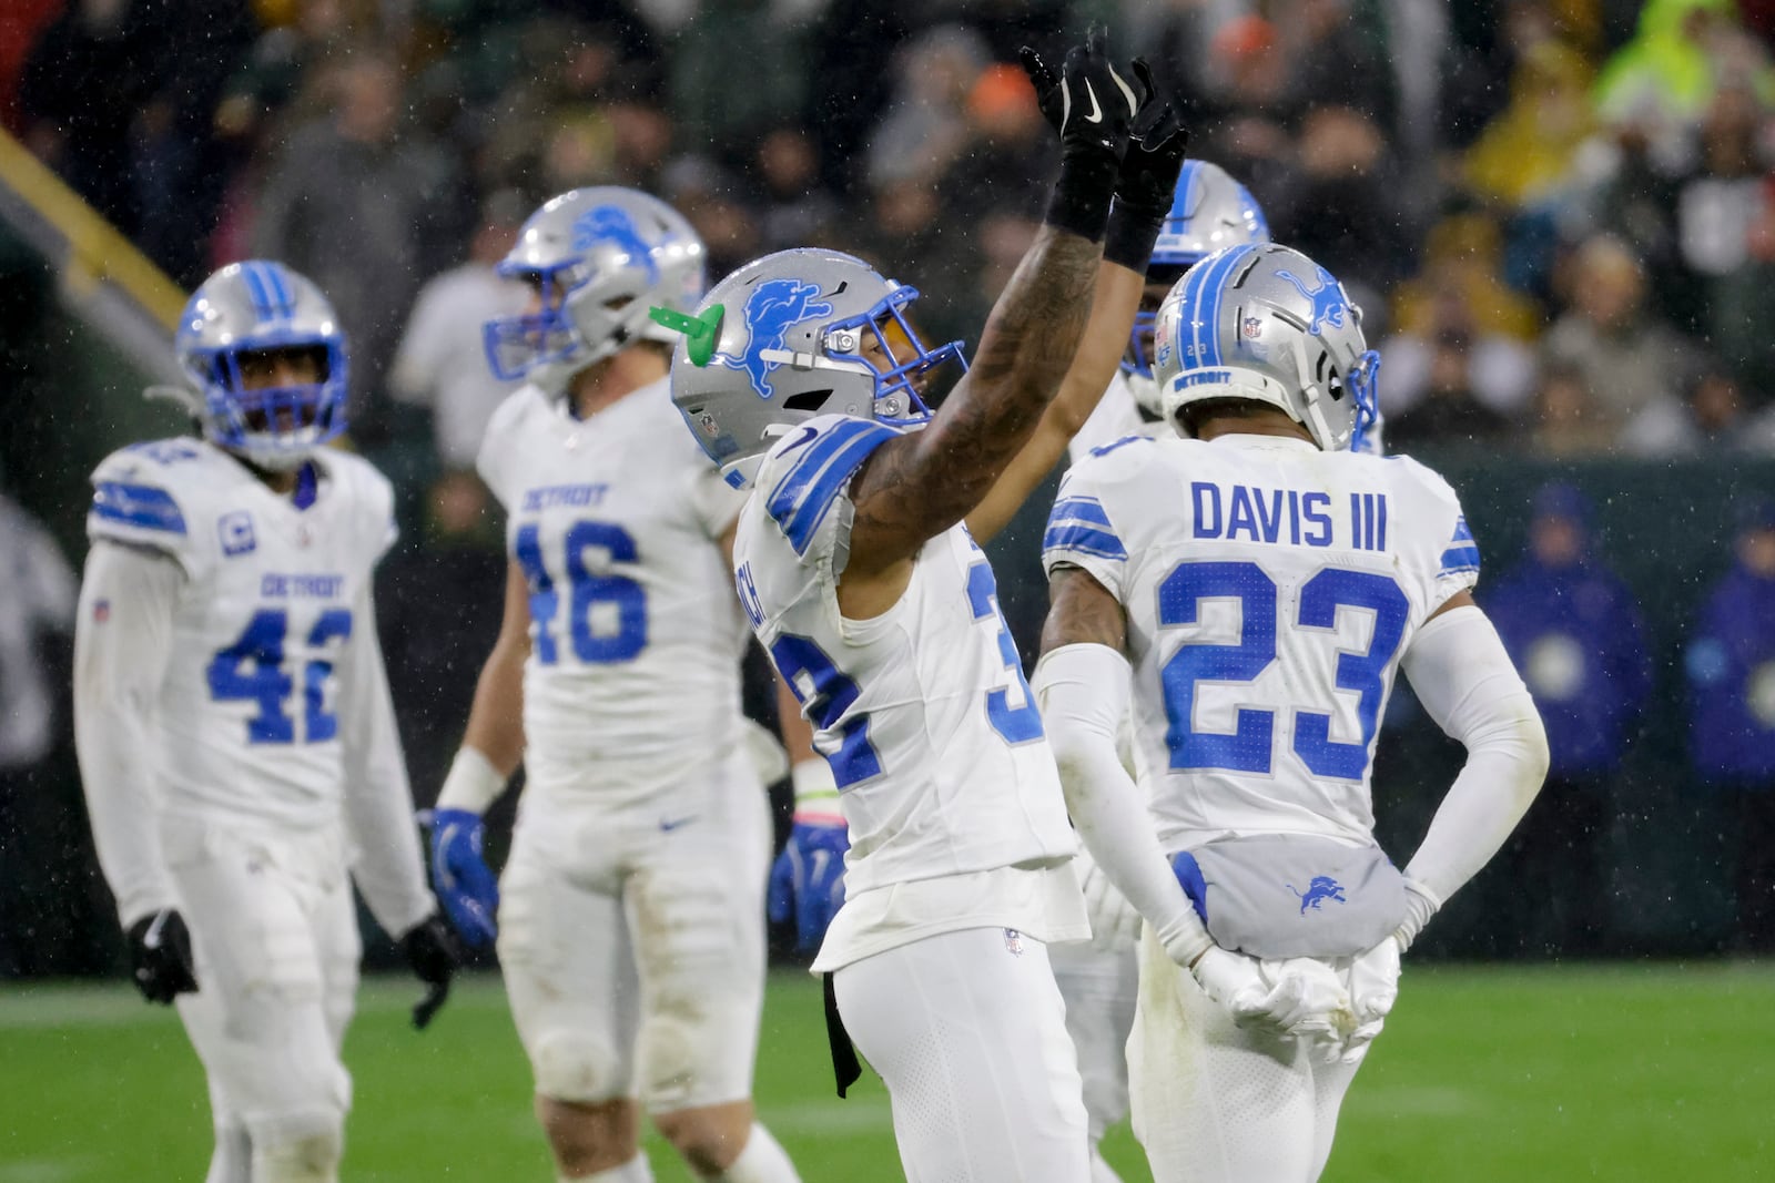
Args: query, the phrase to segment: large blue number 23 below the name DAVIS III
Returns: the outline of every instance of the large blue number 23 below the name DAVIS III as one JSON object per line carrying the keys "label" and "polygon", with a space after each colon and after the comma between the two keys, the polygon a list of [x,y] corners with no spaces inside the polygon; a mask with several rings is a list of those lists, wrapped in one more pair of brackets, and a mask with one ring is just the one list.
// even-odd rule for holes
{"label": "large blue number 23 below the name DAVIS III", "polygon": [[[1184,644],[1164,663],[1164,733],[1172,768],[1271,770],[1276,713],[1239,708],[1232,734],[1195,729],[1196,685],[1255,681],[1276,660],[1276,584],[1255,562],[1182,562],[1159,584],[1159,624],[1195,624],[1203,599],[1239,601],[1239,644]],[[1386,670],[1399,653],[1411,605],[1399,584],[1372,571],[1326,568],[1301,587],[1294,626],[1335,630],[1338,608],[1374,612],[1365,653],[1340,653],[1337,688],[1356,693],[1361,743],[1331,740],[1331,715],[1299,704],[1294,709],[1294,754],[1319,777],[1361,780],[1381,715]]]}

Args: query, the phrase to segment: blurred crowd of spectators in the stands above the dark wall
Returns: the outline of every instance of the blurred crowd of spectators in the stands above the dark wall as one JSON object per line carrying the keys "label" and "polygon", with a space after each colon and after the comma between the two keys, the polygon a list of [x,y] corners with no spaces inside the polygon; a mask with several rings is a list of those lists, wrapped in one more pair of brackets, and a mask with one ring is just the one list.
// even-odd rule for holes
{"label": "blurred crowd of spectators in the stands above the dark wall", "polygon": [[850,248],[967,337],[1051,174],[1017,46],[1090,20],[1353,289],[1392,447],[1775,454],[1770,0],[9,0],[0,117],[181,282],[314,277],[360,438],[453,468],[492,262],[579,184],[676,204],[712,278]]}

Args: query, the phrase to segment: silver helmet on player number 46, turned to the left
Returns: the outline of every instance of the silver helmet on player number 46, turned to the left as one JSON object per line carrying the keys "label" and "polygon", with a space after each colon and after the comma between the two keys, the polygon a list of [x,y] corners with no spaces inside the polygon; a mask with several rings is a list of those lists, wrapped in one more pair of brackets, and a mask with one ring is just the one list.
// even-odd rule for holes
{"label": "silver helmet on player number 46, turned to the left", "polygon": [[671,344],[676,333],[648,309],[694,309],[703,254],[683,215],[637,190],[582,188],[543,202],[499,262],[506,278],[536,286],[541,309],[485,325],[488,367],[559,397],[573,374],[634,341]]}

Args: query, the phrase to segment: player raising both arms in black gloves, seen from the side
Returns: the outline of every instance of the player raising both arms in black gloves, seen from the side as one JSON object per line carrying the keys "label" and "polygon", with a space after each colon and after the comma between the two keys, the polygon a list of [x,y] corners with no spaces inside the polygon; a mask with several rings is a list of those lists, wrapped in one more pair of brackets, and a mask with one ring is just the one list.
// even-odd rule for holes
{"label": "player raising both arms in black gloves, seen from the side", "polygon": [[[967,520],[1069,380],[1090,399],[1108,383],[1182,151],[1170,108],[1150,85],[1136,98],[1100,35],[1060,76],[1026,64],[1060,128],[1060,177],[939,411],[919,392],[958,342],[925,348],[907,316],[918,293],[848,255],[779,252],[719,284],[698,317],[664,316],[687,332],[673,399],[753,488],[740,601],[815,724],[852,841],[815,970],[888,1084],[912,1179],[1090,1176],[1045,947],[1086,935],[1074,839]],[[1111,213],[1113,195],[1154,192],[1156,211]],[[1104,367],[1081,378],[1111,250],[1134,261],[1134,298],[1099,333]]]}

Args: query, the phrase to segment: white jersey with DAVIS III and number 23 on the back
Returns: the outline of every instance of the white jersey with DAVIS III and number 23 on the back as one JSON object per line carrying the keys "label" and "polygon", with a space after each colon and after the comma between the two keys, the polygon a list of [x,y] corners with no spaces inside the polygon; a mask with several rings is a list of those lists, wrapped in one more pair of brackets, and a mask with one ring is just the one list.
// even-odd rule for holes
{"label": "white jersey with DAVIS III and number 23 on the back", "polygon": [[1479,578],[1461,504],[1424,465],[1255,435],[1099,449],[1061,482],[1042,560],[1127,610],[1136,764],[1166,850],[1367,841],[1400,654]]}

